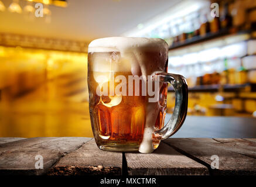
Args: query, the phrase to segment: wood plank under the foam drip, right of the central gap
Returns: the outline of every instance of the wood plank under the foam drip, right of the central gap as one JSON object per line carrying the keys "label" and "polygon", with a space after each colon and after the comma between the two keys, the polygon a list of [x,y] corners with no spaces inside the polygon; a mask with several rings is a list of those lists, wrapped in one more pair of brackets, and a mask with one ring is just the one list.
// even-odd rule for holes
{"label": "wood plank under the foam drip, right of the central gap", "polygon": [[161,143],[151,154],[125,153],[129,175],[209,175],[207,167]]}

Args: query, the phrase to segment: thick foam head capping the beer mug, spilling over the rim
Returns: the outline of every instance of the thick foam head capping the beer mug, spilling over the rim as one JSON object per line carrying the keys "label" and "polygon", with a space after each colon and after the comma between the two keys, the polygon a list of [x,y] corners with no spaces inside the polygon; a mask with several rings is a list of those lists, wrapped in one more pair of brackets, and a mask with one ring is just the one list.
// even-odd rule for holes
{"label": "thick foam head capping the beer mug, spilling over the rim", "polygon": [[[131,71],[132,75],[152,75],[154,71],[164,71],[168,58],[168,44],[162,39],[146,37],[105,37],[91,41],[88,46],[88,53],[111,51],[120,52],[122,59],[128,59],[131,64],[128,71]],[[158,59],[147,58],[149,54],[145,54],[145,51],[151,51],[152,53],[158,52]],[[124,62],[122,61],[122,63]],[[94,63],[97,63],[97,61],[94,61]],[[103,67],[103,65],[99,66],[98,64],[93,66],[93,71],[99,71],[96,69]],[[127,65],[125,67],[122,67],[122,65],[118,66],[121,68],[120,71],[127,71],[127,68],[125,68],[128,67]],[[107,70],[107,68],[101,69]]]}

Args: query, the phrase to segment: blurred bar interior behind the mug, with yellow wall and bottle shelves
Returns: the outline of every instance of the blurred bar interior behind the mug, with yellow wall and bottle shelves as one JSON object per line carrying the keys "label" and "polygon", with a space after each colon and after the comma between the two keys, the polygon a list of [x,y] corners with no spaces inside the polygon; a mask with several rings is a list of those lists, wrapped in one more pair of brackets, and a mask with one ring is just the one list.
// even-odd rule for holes
{"label": "blurred bar interior behind the mug, with yellow wall and bottle shelves", "polygon": [[0,137],[92,137],[87,46],[109,36],[166,40],[188,115],[256,117],[255,30],[255,0],[1,0]]}

